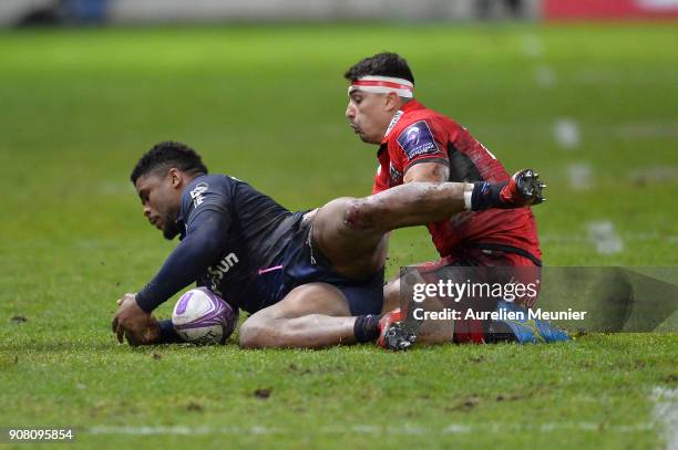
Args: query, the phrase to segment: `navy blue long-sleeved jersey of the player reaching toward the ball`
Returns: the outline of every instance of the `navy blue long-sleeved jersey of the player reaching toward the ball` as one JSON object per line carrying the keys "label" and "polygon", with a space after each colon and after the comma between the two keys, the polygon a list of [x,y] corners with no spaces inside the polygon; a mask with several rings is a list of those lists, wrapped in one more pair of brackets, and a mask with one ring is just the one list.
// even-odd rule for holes
{"label": "navy blue long-sleeved jersey of the player reaching toward the ball", "polygon": [[197,282],[234,306],[257,311],[259,273],[281,260],[291,230],[280,224],[291,219],[286,208],[236,178],[195,178],[182,193],[181,243],[137,303],[150,312]]}

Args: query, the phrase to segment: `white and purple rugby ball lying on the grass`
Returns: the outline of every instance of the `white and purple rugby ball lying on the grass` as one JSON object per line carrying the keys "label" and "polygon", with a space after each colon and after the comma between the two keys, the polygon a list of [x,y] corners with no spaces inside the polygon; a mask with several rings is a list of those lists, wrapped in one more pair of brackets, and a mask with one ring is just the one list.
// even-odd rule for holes
{"label": "white and purple rugby ball lying on the grass", "polygon": [[192,289],[172,312],[174,331],[195,345],[224,344],[238,321],[238,310],[207,287]]}

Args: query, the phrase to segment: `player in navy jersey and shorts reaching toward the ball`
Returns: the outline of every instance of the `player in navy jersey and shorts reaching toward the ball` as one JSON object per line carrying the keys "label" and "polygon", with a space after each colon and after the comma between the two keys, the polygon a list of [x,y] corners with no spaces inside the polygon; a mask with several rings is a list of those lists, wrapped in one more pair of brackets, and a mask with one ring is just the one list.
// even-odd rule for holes
{"label": "player in navy jersey and shorts reaching toward the ball", "polygon": [[178,342],[171,321],[151,313],[192,283],[250,313],[239,331],[245,347],[376,341],[388,231],[542,200],[527,170],[503,184],[412,182],[290,212],[244,181],[207,174],[195,150],[173,142],[134,167],[144,216],[181,242],[148,284],[119,301],[112,328],[121,343]]}

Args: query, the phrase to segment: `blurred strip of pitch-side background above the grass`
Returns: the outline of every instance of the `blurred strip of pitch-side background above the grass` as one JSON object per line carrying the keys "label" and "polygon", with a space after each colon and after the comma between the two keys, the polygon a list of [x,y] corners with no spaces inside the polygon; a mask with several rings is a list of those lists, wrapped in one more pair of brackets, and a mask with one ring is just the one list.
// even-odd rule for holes
{"label": "blurred strip of pitch-side background above the grass", "polygon": [[675,0],[4,0],[0,23],[662,19]]}

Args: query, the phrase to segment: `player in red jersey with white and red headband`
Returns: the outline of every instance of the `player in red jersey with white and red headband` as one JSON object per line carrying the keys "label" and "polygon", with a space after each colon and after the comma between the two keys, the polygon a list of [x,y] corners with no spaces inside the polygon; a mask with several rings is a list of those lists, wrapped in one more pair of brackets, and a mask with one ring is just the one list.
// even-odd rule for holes
{"label": "player in red jersey with white and red headband", "polygon": [[[346,117],[366,144],[379,146],[372,193],[413,181],[501,184],[510,180],[502,163],[453,119],[414,100],[414,77],[396,53],[366,57],[345,74],[350,82]],[[470,201],[470,199],[469,199]],[[441,260],[439,266],[532,266],[538,278],[542,252],[532,210],[464,211],[428,224]],[[399,280],[384,290],[384,312],[399,304]],[[522,306],[532,307],[536,296]],[[400,321],[402,314],[387,315]],[[455,321],[433,342],[486,341],[487,323]],[[501,325],[501,324],[500,324]],[[382,341],[380,341],[382,342]]]}

